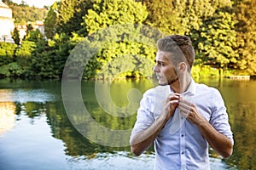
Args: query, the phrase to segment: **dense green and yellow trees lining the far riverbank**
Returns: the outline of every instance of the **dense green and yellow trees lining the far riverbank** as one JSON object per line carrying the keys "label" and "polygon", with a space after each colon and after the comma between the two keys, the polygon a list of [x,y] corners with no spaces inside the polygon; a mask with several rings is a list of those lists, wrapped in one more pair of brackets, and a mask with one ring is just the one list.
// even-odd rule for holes
{"label": "dense green and yellow trees lining the far riverbank", "polygon": [[194,77],[255,75],[255,5],[250,0],[61,0],[45,18],[47,39],[30,31],[20,46],[0,44],[0,76],[66,77],[63,69],[73,56],[69,76],[151,77],[155,43],[164,34],[191,37]]}

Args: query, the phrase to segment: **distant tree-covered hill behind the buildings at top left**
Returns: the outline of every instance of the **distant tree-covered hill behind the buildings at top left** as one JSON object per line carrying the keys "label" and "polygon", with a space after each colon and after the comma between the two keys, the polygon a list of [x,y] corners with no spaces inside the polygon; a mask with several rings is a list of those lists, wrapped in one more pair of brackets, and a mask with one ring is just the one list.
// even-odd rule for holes
{"label": "distant tree-covered hill behind the buildings at top left", "polygon": [[17,4],[10,0],[3,0],[3,3],[7,4],[9,8],[13,9],[15,25],[26,25],[27,21],[34,22],[36,20],[44,20],[48,12],[46,7],[30,7],[25,3]]}

